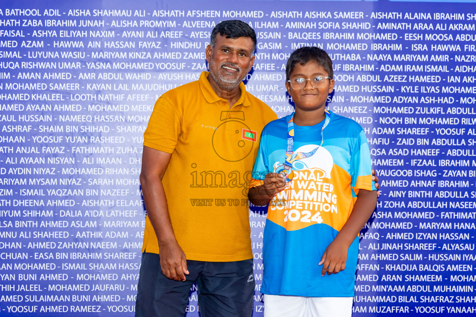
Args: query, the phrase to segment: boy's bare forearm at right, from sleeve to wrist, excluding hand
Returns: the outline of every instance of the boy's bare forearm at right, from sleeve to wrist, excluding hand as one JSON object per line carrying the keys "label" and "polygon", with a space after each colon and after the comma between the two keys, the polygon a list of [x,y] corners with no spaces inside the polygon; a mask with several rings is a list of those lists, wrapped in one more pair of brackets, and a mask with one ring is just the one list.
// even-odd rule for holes
{"label": "boy's bare forearm at right, from sleeve to wrist, excluding hand", "polygon": [[377,191],[359,190],[350,217],[337,234],[335,240],[341,240],[347,247],[350,246],[372,215],[376,205]]}

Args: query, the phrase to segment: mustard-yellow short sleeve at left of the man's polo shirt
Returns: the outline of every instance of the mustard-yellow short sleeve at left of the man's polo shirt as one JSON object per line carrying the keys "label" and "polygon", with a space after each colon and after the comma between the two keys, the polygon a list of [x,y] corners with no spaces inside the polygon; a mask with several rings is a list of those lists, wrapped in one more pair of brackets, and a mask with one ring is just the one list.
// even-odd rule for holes
{"label": "mustard-yellow short sleeve at left of the man's polo shirt", "polygon": [[144,132],[144,145],[153,149],[173,153],[181,132],[176,109],[165,98],[160,97],[150,115],[149,125]]}

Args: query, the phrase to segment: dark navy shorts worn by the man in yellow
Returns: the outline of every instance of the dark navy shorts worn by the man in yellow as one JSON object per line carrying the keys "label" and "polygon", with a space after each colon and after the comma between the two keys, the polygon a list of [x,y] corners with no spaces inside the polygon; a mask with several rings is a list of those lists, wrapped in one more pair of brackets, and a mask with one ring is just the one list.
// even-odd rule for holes
{"label": "dark navy shorts worn by the man in yellow", "polygon": [[183,317],[188,295],[197,282],[201,317],[251,317],[253,259],[235,262],[187,260],[187,280],[166,278],[159,254],[143,253],[137,287],[136,317]]}

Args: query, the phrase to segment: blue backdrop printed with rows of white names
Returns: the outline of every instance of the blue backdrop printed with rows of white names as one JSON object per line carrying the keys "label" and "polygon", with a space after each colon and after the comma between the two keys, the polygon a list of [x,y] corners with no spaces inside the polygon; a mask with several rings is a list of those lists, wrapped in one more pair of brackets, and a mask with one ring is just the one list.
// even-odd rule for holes
{"label": "blue backdrop printed with rows of white names", "polygon": [[[328,109],[362,125],[381,192],[353,316],[476,312],[475,1],[0,4],[0,316],[133,316],[155,100],[207,70],[222,20],[258,36],[249,92],[279,117],[289,54],[334,63]],[[250,209],[263,316],[263,209]],[[187,317],[199,316],[196,287]]]}

